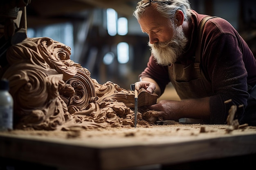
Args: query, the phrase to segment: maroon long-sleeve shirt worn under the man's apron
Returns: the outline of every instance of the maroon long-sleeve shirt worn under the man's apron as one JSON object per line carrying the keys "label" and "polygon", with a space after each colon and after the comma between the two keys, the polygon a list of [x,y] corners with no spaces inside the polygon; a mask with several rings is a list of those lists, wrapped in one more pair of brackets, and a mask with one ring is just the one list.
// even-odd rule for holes
{"label": "maroon long-sleeve shirt worn under the man's apron", "polygon": [[[193,62],[195,50],[198,46],[198,26],[206,15],[193,11],[190,26],[193,29],[191,40],[179,61],[184,65]],[[256,85],[256,59],[246,42],[236,29],[226,20],[213,18],[204,26],[201,45],[200,67],[212,85],[210,97],[210,123],[225,123],[231,105],[247,106],[247,85]],[[139,77],[153,78],[161,89],[161,93],[170,79],[168,66],[158,65],[151,55],[147,68]],[[226,100],[232,102],[225,104]],[[245,109],[237,111],[240,118]]]}

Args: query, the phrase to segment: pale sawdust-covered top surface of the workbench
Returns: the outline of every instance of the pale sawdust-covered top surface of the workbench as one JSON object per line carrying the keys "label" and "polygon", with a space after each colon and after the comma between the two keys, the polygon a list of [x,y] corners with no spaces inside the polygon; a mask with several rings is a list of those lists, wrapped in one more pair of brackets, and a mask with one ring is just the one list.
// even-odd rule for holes
{"label": "pale sawdust-covered top surface of the workbench", "polygon": [[[247,134],[255,133],[255,126],[240,125],[238,129],[233,131],[227,130],[229,125],[204,125],[204,124],[182,124],[174,121],[166,121],[163,125],[141,125],[138,124],[137,128],[98,128],[98,129],[83,129],[81,127],[75,127],[69,131],[44,131],[44,130],[13,130],[8,132],[11,135],[21,136],[33,136],[40,137],[40,139],[65,139],[65,140],[76,140],[76,141],[91,141],[92,143],[97,142],[108,142],[113,141],[109,139],[115,139],[115,141],[123,140],[123,142],[129,142],[130,139],[146,142],[148,140],[166,139],[171,137],[179,139],[180,137],[200,137],[209,136],[214,137],[218,135],[230,135],[230,134]],[[106,140],[104,140],[106,139]],[[95,144],[96,144],[95,143]]]}

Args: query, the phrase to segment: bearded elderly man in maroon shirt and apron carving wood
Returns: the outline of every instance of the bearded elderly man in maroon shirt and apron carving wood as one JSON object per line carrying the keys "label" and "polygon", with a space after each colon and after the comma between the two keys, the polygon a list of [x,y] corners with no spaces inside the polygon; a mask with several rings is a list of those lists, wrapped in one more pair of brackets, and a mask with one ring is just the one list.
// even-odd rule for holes
{"label": "bearded elderly man in maroon shirt and apron carving wood", "polygon": [[141,0],[133,15],[151,50],[135,89],[160,96],[171,82],[181,99],[149,109],[163,120],[226,124],[235,105],[239,123],[256,126],[256,59],[229,22],[203,20],[207,15],[192,10],[188,0]]}

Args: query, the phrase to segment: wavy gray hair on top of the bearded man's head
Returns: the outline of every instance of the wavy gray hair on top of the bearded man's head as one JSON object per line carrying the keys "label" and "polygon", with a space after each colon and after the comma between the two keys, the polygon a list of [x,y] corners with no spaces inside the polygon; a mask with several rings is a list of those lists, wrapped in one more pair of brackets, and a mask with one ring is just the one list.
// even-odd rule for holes
{"label": "wavy gray hair on top of the bearded man's head", "polygon": [[[141,17],[144,13],[144,11],[147,10],[147,8],[150,5],[154,5],[155,9],[162,14],[163,17],[169,18],[169,19],[175,19],[175,13],[178,9],[180,9],[184,13],[184,20],[188,21],[191,17],[191,6],[189,3],[189,0],[168,0],[170,1],[170,4],[164,3],[164,2],[150,2],[150,4],[146,7],[141,7],[143,4],[145,4],[145,0],[141,0],[137,3],[136,10],[133,12],[133,16],[138,20],[139,17]],[[148,0],[149,2],[149,0]]]}

